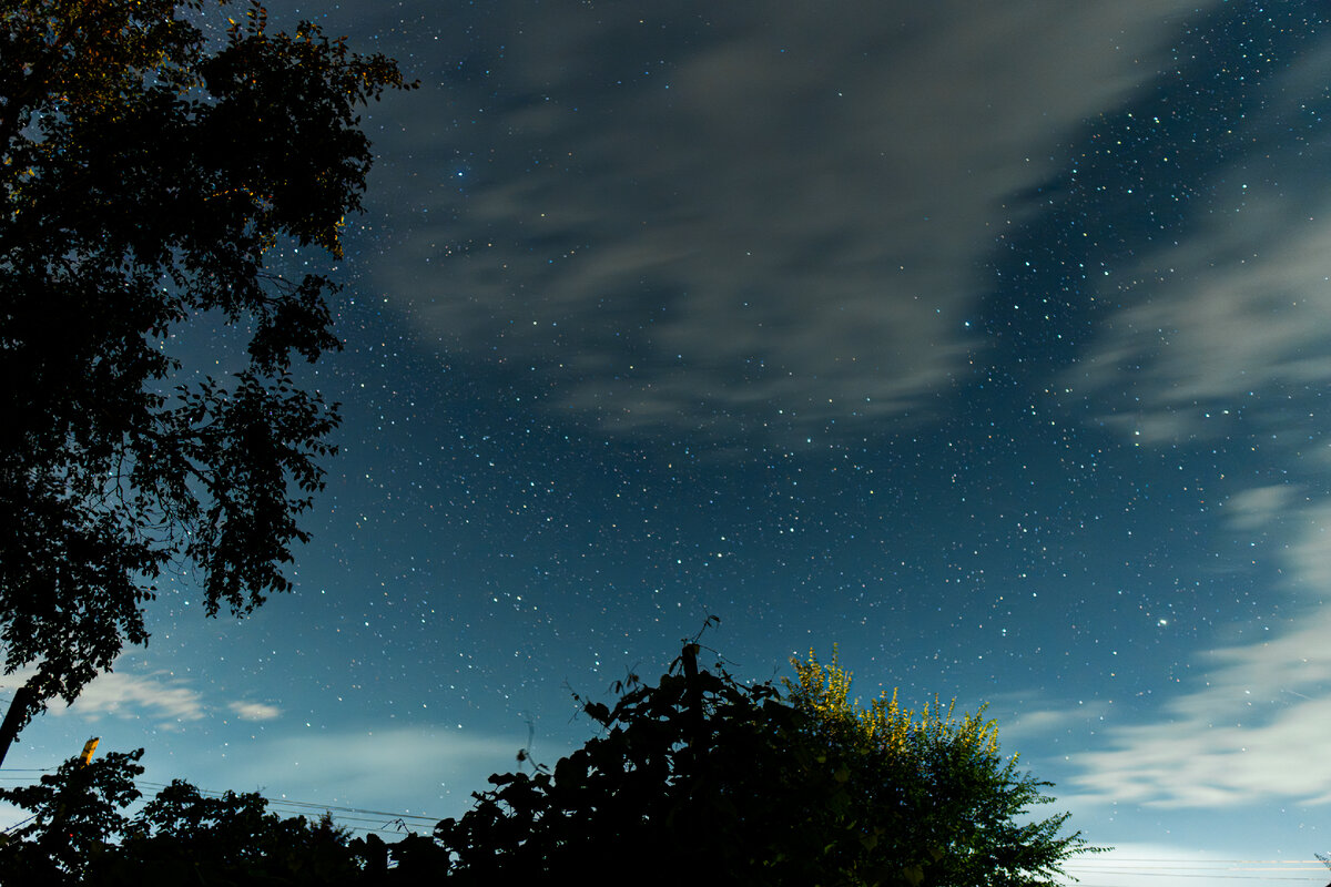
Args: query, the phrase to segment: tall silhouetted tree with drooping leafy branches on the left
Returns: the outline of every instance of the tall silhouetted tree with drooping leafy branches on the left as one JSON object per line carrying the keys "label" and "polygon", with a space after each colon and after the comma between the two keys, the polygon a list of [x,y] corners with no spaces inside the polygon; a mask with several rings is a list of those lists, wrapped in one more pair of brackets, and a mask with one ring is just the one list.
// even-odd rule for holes
{"label": "tall silhouetted tree with drooping leafy branches on the left", "polygon": [[[222,0],[225,3],[225,0]],[[357,108],[405,86],[252,5],[212,51],[201,0],[11,0],[0,16],[0,642],[35,668],[0,729],[73,701],[172,561],[213,616],[285,590],[337,406],[293,358],[338,348],[321,274],[370,166]],[[228,378],[176,378],[170,338],[244,335]],[[242,332],[244,331],[244,332]]]}

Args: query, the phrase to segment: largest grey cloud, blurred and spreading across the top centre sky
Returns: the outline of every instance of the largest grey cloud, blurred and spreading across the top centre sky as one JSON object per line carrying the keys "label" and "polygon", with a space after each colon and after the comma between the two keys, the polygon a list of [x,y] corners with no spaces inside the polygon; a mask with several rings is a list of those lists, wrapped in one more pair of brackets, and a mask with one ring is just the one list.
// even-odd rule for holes
{"label": "largest grey cloud, blurred and spreading across the top centre sky", "polygon": [[980,347],[965,319],[1029,211],[1013,195],[1194,7],[945,5],[707,4],[646,66],[640,11],[531,12],[494,72],[528,100],[476,117],[491,162],[465,198],[438,189],[381,285],[427,342],[538,370],[548,406],[610,430],[926,414]]}

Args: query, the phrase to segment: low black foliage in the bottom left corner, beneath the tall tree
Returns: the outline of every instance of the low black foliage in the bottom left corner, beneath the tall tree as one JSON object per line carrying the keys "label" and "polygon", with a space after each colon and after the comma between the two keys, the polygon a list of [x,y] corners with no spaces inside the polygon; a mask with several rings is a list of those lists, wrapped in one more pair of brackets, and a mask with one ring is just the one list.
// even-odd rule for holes
{"label": "low black foliage in the bottom left corner, beneath the tall tree", "polygon": [[142,749],[41,783],[0,789],[33,815],[0,836],[0,887],[418,887],[437,884],[447,854],[430,838],[350,838],[325,815],[284,819],[257,794],[209,797],[176,781],[132,818]]}

